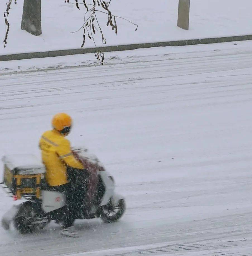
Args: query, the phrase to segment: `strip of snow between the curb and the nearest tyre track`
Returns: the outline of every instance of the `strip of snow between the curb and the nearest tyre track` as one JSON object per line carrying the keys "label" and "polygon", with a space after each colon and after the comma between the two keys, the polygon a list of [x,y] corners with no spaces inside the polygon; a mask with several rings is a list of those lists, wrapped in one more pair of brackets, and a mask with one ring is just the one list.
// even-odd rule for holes
{"label": "strip of snow between the curb and the nearest tyre track", "polygon": [[[107,65],[137,63],[139,61],[158,61],[169,58],[183,58],[189,54],[192,58],[205,55],[214,56],[216,52],[227,54],[230,51],[247,51],[252,41],[240,41],[217,44],[202,44],[177,47],[155,47],[148,49],[136,49],[130,51],[117,51],[105,53],[104,67]],[[179,57],[178,57],[179,56]],[[0,62],[1,74],[16,74],[17,72],[52,71],[68,68],[95,67],[100,63],[94,58],[93,53],[85,55],[70,55],[50,58],[13,60]]]}

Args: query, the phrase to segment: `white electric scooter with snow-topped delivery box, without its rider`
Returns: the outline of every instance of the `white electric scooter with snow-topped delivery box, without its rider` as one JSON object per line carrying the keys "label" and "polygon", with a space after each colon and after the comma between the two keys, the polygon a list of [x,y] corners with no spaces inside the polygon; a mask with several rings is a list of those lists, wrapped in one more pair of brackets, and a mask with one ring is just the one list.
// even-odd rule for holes
{"label": "white electric scooter with snow-topped delivery box, without its rider", "polygon": [[[87,198],[89,207],[83,204],[75,219],[101,218],[105,222],[119,220],[125,211],[123,196],[116,194],[113,177],[98,158],[87,149],[73,148],[75,157],[87,168]],[[23,164],[25,159],[25,165]],[[21,233],[41,229],[51,220],[58,221],[66,198],[63,193],[50,191],[45,184],[45,168],[33,155],[4,156],[4,181],[6,192],[14,199],[23,199],[2,218],[2,226],[9,229],[11,222]],[[59,223],[59,221],[58,221]]]}

